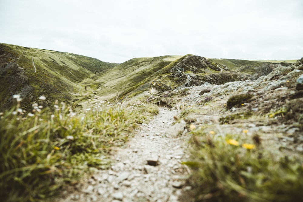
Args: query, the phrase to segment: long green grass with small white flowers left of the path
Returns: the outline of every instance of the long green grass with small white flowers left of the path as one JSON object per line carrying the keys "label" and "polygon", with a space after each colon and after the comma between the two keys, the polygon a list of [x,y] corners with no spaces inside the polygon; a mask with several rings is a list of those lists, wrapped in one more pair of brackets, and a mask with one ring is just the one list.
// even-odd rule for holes
{"label": "long green grass with small white flowers left of the path", "polygon": [[[91,168],[110,166],[112,147],[123,145],[137,124],[158,113],[141,99],[122,104],[95,103],[75,113],[65,103],[54,111],[34,103],[0,116],[0,197],[2,201],[43,201]],[[19,99],[19,98],[18,98]]]}

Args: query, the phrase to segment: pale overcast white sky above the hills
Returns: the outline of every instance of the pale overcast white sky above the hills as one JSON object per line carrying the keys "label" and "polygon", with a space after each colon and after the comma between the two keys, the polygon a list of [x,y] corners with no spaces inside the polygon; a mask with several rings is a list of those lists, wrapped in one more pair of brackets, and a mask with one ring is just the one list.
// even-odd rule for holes
{"label": "pale overcast white sky above the hills", "polygon": [[303,0],[0,0],[0,43],[106,62],[303,57]]}

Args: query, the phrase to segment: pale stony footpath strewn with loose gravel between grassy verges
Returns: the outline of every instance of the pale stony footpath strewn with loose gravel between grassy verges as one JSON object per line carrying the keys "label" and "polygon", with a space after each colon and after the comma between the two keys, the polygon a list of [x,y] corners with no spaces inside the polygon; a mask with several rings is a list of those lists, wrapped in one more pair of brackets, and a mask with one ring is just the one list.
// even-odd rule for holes
{"label": "pale stony footpath strewn with loose gravel between grassy verges", "polygon": [[182,140],[186,137],[176,137],[177,130],[170,127],[176,114],[159,108],[159,114],[114,153],[111,169],[78,184],[60,201],[178,201],[182,189],[190,187],[184,186],[189,170],[181,164],[188,158]]}

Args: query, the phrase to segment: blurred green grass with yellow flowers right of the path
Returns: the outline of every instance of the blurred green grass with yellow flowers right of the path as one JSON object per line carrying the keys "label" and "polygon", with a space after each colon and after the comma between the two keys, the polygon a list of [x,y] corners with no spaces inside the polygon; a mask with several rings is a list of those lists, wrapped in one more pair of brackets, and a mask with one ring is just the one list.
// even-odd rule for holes
{"label": "blurred green grass with yellow flowers right of the path", "polygon": [[[246,132],[246,131],[245,131]],[[268,151],[259,136],[197,129],[189,179],[195,201],[298,201],[303,198],[299,159]],[[257,140],[256,140],[257,139]]]}

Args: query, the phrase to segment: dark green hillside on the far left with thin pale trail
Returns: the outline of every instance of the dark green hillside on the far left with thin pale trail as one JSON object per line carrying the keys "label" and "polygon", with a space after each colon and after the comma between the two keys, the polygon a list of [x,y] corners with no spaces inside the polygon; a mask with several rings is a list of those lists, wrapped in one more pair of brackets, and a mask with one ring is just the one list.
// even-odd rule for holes
{"label": "dark green hillside on the far left with thin pale trail", "polygon": [[45,104],[57,99],[76,101],[84,91],[82,81],[118,64],[71,53],[0,44],[0,65],[0,109],[12,106],[13,94],[20,94],[21,106],[28,109],[41,95],[47,98]]}

